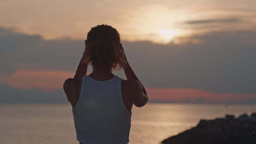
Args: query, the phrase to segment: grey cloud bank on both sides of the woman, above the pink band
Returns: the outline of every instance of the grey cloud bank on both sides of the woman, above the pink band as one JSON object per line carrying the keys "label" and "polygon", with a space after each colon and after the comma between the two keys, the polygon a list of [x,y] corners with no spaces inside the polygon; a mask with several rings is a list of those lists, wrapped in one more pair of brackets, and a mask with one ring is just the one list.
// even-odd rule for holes
{"label": "grey cloud bank on both sides of the woman, above the pink band", "polygon": [[[20,68],[74,72],[82,56],[82,40],[45,40],[0,28],[2,31],[1,75]],[[201,43],[122,43],[130,65],[147,88],[256,92],[256,31],[220,31],[185,39]],[[124,76],[123,72],[116,73]]]}

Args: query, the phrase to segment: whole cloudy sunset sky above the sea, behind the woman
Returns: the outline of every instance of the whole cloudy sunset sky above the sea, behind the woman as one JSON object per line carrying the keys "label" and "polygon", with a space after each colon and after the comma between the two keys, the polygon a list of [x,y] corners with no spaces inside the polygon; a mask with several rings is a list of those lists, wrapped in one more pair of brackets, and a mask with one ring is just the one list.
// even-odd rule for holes
{"label": "whole cloudy sunset sky above the sea, behind the woman", "polygon": [[67,102],[62,85],[74,75],[87,32],[108,24],[119,31],[150,101],[256,103],[255,5],[1,0],[0,102]]}

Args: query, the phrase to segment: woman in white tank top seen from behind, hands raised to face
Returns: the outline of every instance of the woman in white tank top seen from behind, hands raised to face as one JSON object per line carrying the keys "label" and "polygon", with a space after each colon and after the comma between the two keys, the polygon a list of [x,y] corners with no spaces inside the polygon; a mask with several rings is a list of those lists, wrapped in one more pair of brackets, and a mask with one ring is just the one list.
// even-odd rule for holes
{"label": "woman in white tank top seen from behind, hands raised to face", "polygon": [[[93,71],[86,75],[88,64]],[[127,80],[112,73],[121,68]],[[91,28],[74,78],[64,81],[63,87],[73,108],[80,144],[128,144],[132,106],[143,107],[148,97],[127,61],[115,28]]]}

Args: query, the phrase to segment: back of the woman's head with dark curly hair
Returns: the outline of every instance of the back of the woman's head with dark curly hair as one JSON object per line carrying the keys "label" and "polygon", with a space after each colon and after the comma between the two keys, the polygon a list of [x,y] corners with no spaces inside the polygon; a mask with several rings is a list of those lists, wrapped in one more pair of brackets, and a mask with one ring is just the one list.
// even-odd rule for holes
{"label": "back of the woman's head with dark curly hair", "polygon": [[108,25],[91,27],[87,34],[85,63],[102,70],[120,70],[125,62],[125,54],[120,49],[118,31]]}

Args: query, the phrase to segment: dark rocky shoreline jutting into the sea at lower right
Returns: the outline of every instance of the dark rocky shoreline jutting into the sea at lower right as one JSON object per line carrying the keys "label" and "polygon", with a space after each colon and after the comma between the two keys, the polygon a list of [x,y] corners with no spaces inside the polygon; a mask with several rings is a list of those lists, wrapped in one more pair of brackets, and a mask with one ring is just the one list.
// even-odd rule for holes
{"label": "dark rocky shoreline jutting into the sea at lower right", "polygon": [[162,144],[256,144],[256,113],[201,119],[197,126],[165,139]]}

